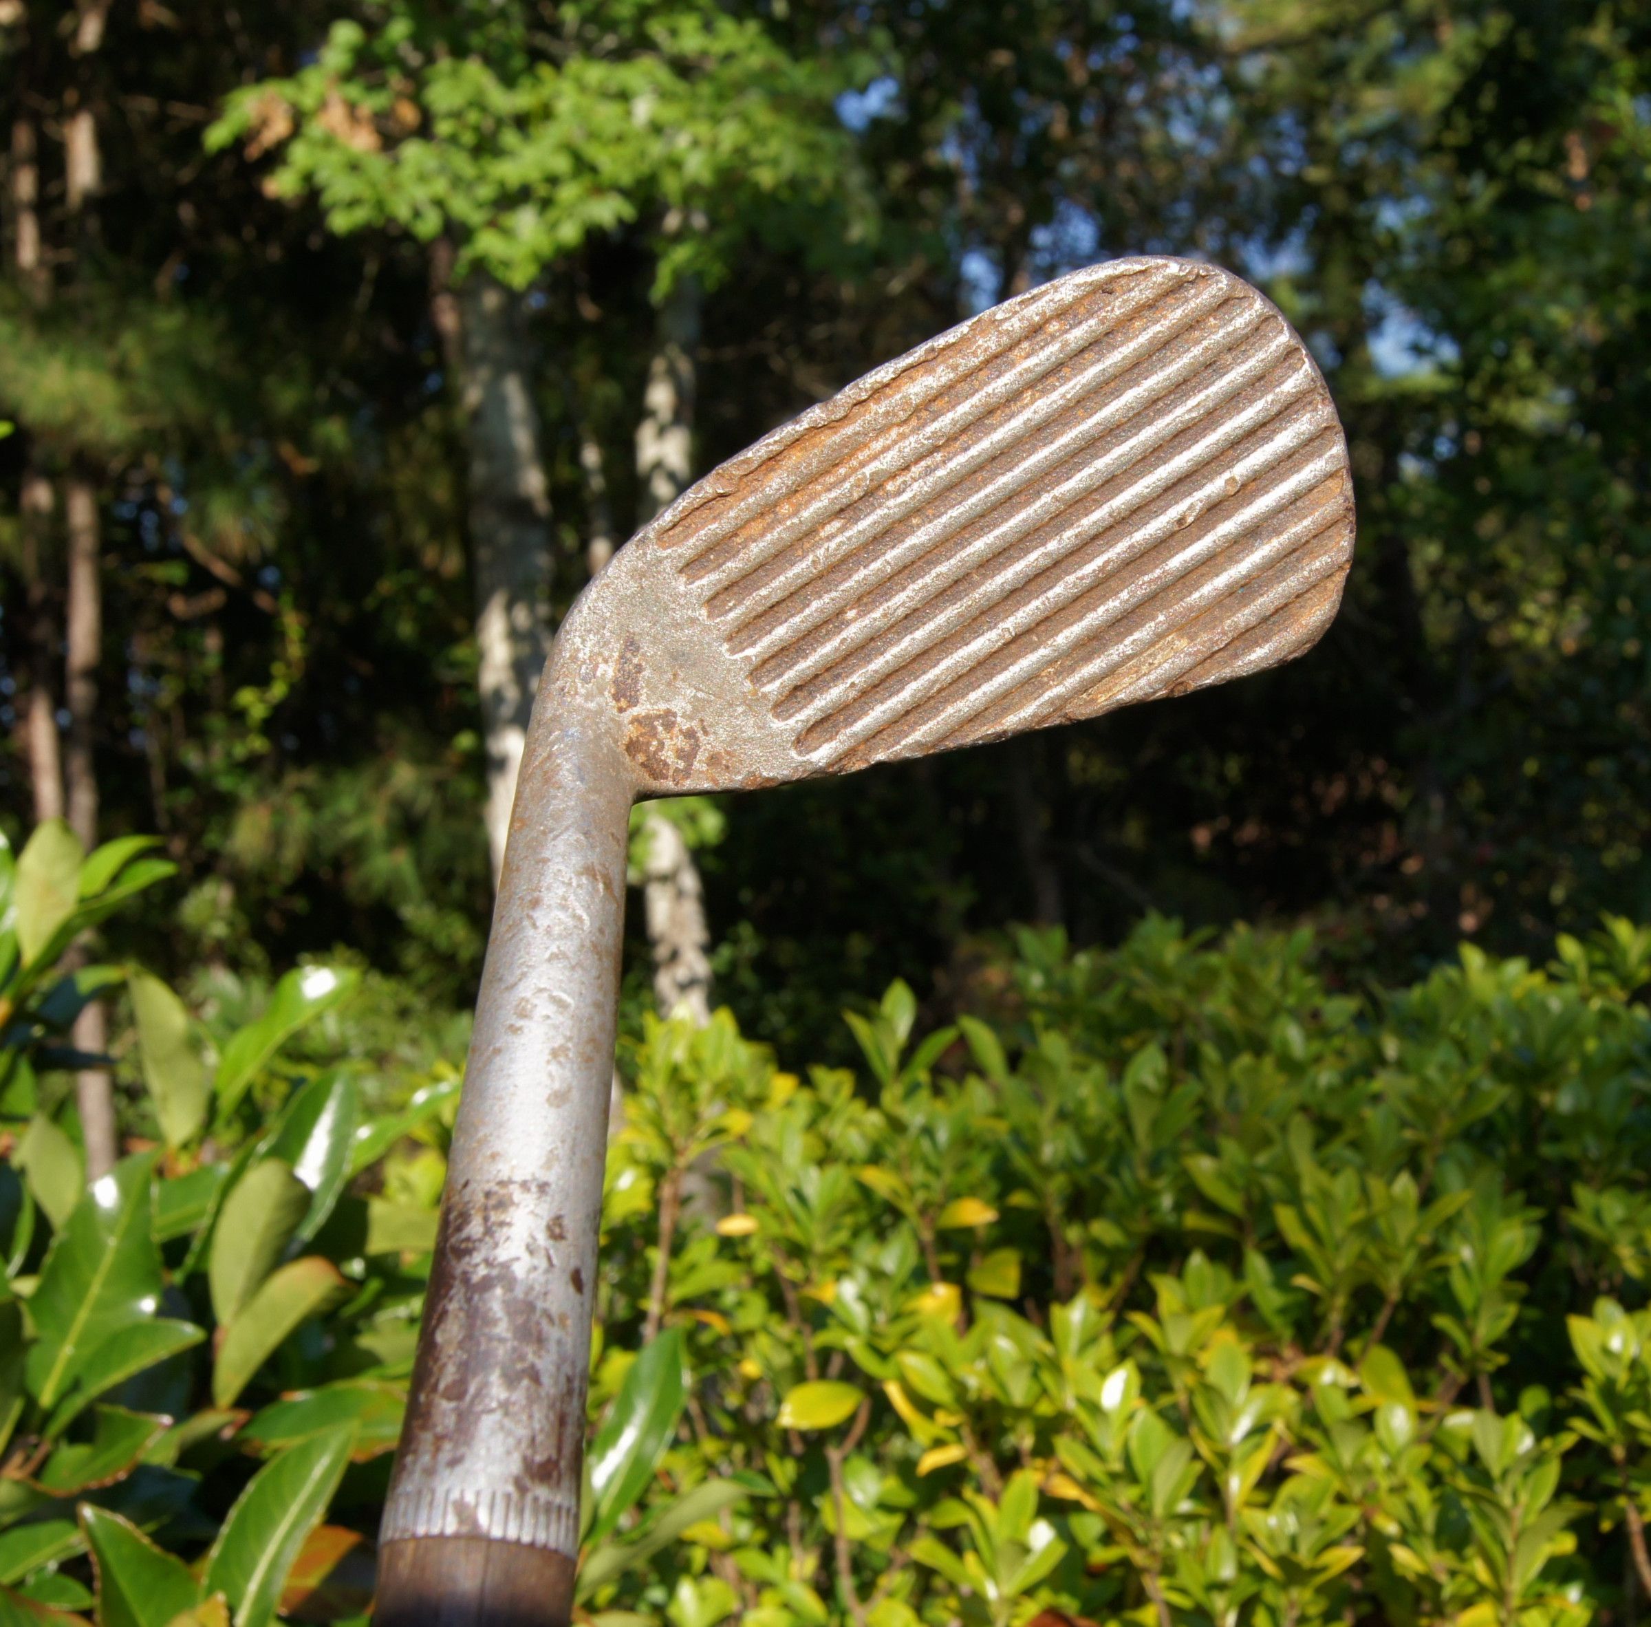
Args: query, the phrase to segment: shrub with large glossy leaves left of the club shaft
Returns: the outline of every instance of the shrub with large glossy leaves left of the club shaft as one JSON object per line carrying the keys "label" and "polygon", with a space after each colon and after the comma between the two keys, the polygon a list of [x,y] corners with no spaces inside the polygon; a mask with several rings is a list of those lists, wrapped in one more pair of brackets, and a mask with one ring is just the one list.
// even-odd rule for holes
{"label": "shrub with large glossy leaves left of the club shaft", "polygon": [[[64,993],[76,981],[53,958],[170,874],[145,846],[83,861],[66,829],[45,826],[15,884],[0,856],[3,1062],[33,1090],[31,1117],[10,1113],[21,1133],[0,1171],[0,1586],[21,1589],[18,1607],[78,1607],[94,1579],[97,1619],[137,1627],[185,1612],[266,1624],[289,1587],[358,1615],[360,1589],[327,1577],[362,1539],[322,1521],[340,1498],[371,1506],[383,1492],[439,1186],[396,1176],[419,1150],[439,1163],[454,1092],[429,1082],[363,1125],[353,1072],[287,1057],[355,989],[347,970],[287,975],[221,1046],[134,971],[129,1055],[147,1103],[132,1117],[154,1113],[165,1146],[83,1189],[73,1113],[53,1089],[73,1062],[53,1036],[78,1009]],[[352,1178],[401,1201],[350,1193]],[[375,1224],[375,1207],[393,1224]],[[76,1558],[88,1551],[94,1571]]]}

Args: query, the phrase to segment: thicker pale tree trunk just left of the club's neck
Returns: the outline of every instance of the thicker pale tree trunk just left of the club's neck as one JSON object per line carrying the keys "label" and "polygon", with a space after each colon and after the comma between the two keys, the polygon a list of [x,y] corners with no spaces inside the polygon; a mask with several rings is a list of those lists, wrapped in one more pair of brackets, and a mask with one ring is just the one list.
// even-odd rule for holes
{"label": "thicker pale tree trunk just left of the club's neck", "polygon": [[[480,273],[442,309],[469,441],[477,687],[487,747],[487,844],[504,862],[522,745],[550,652],[550,486],[527,363],[523,297]],[[444,335],[446,337],[446,335]]]}

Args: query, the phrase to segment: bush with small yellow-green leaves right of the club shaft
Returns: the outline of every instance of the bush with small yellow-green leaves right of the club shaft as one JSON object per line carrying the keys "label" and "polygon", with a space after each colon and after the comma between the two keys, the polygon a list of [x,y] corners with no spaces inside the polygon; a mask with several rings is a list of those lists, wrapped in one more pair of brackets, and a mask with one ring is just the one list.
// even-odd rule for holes
{"label": "bush with small yellow-green leaves right of the club shaft", "polygon": [[[903,986],[855,1016],[863,1084],[644,1036],[609,1350],[669,1247],[703,1417],[662,1482],[769,1490],[593,1607],[1557,1627],[1644,1589],[1643,1290],[1580,1226],[1644,1191],[1643,937],[1370,999],[1306,935],[1162,920],[1005,971],[921,1042]],[[662,1226],[713,1138],[721,1199]]]}

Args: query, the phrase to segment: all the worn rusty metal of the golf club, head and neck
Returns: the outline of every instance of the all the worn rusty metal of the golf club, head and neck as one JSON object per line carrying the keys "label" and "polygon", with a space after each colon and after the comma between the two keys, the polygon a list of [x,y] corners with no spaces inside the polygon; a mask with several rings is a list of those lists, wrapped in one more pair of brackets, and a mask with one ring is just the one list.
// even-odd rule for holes
{"label": "all the worn rusty metal of the golf club, head and neck", "polygon": [[1126,259],[868,373],[614,557],[533,712],[386,1554],[578,1548],[632,798],[1275,666],[1334,616],[1352,534],[1336,411],[1278,311],[1215,268]]}

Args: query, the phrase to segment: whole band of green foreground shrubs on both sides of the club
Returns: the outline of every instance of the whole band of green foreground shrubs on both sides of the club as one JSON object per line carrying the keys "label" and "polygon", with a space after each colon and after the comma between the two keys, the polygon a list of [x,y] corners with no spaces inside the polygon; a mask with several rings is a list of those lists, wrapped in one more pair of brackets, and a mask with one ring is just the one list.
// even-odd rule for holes
{"label": "whole band of green foreground shrubs on both sides of the club", "polygon": [[[28,1155],[73,1156],[56,1075],[30,1085],[0,1176],[15,1610],[365,1609],[454,1085],[368,1118],[347,1060],[284,1062],[305,978],[211,1062],[129,983],[162,1133],[78,1201]],[[1633,1619],[1648,978],[1621,922],[1547,970],[1464,950],[1347,993],[1304,935],[1147,920],[1106,953],[1022,935],[923,1037],[895,984],[849,1019],[860,1074],[783,1072],[726,1014],[649,1021],[609,1160],[581,1609]],[[38,1008],[20,1055],[61,1026]]]}

